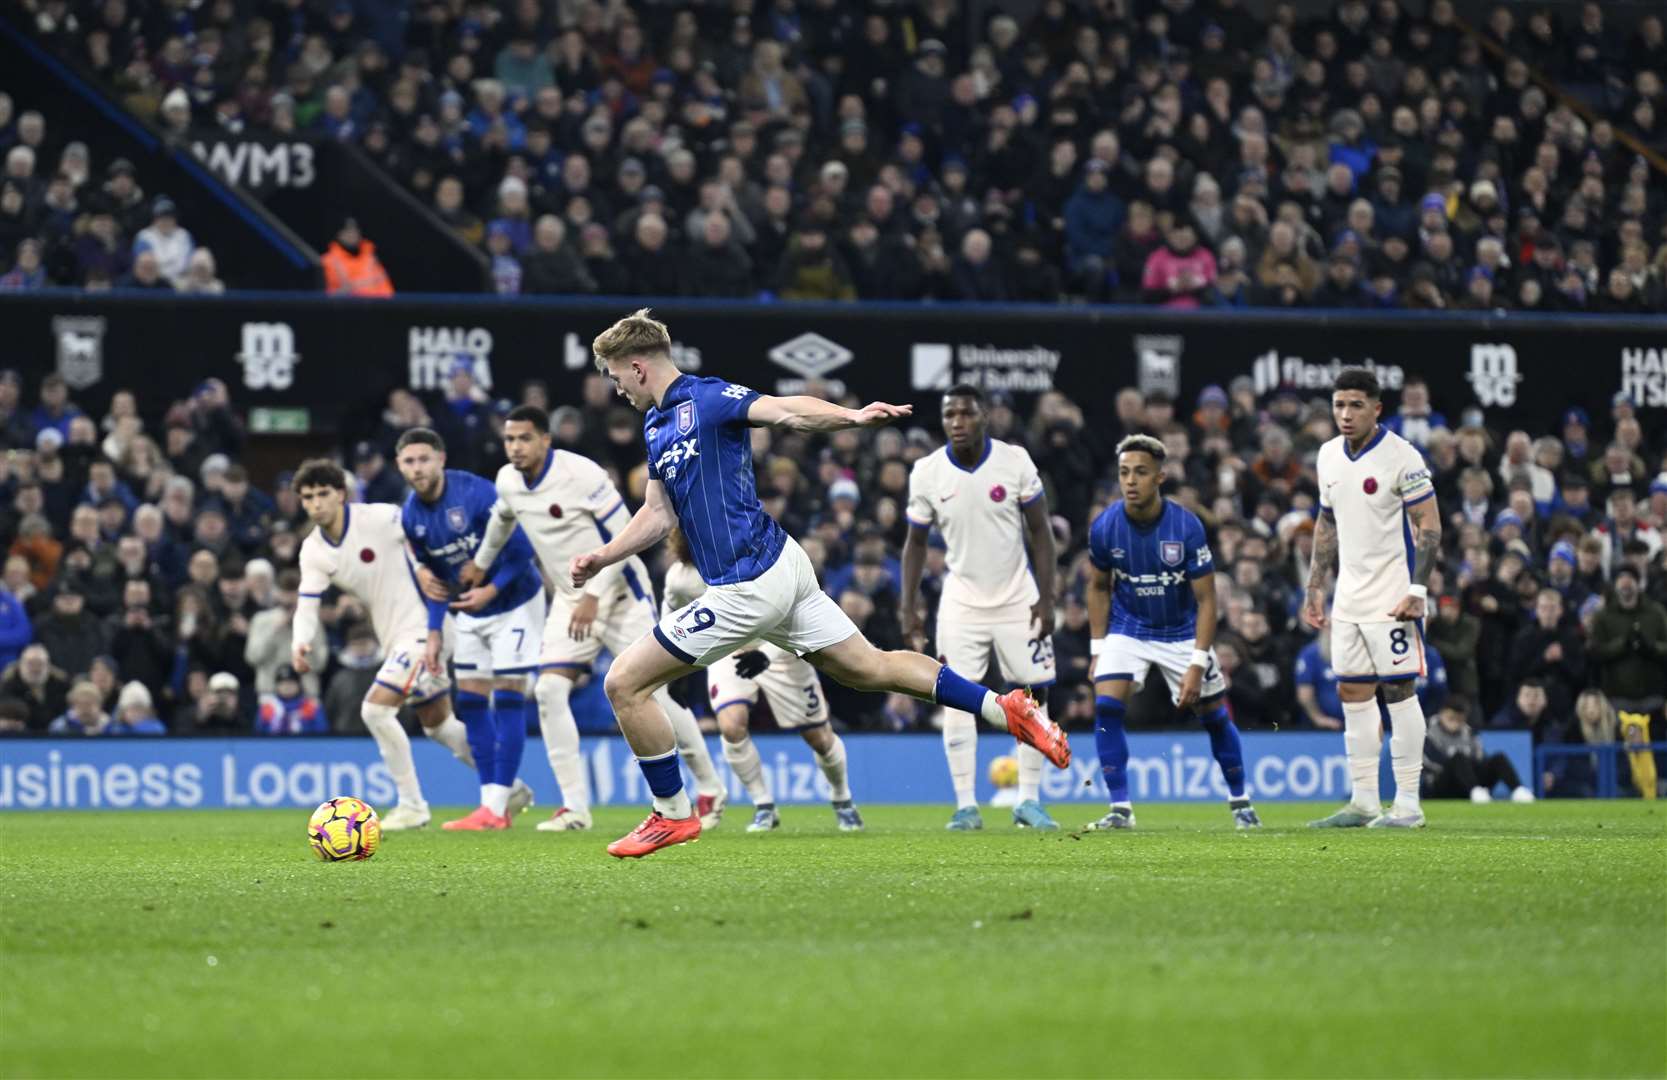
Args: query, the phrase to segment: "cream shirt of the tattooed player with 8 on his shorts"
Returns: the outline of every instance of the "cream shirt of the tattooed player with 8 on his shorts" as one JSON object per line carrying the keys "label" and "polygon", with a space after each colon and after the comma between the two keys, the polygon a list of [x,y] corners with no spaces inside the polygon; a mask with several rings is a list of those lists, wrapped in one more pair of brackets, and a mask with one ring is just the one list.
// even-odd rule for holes
{"label": "cream shirt of the tattooed player with 8 on his shorts", "polygon": [[1394,622],[1389,612],[1412,587],[1407,507],[1435,498],[1419,448],[1385,427],[1360,453],[1339,435],[1320,447],[1320,508],[1337,522],[1337,595],[1332,618]]}

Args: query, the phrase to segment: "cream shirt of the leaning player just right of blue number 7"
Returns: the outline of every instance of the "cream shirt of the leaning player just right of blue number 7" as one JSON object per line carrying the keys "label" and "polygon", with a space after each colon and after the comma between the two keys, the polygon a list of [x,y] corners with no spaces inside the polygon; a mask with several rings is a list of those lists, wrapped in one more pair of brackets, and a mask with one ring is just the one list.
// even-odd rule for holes
{"label": "cream shirt of the leaning player just right of blue number 7", "polygon": [[[605,468],[583,455],[550,450],[537,478],[528,482],[518,468],[505,465],[498,470],[497,488],[493,515],[522,527],[545,573],[555,582],[558,602],[572,603],[583,593],[605,598],[622,582],[633,597],[653,602],[648,568],[635,555],[607,567],[583,590],[573,588],[573,580],[567,577],[567,563],[575,555],[597,550],[630,522],[625,500]],[[508,530],[492,545],[497,537],[498,530],[493,528],[488,543],[475,553],[477,565],[492,565],[498,548],[508,540]]]}

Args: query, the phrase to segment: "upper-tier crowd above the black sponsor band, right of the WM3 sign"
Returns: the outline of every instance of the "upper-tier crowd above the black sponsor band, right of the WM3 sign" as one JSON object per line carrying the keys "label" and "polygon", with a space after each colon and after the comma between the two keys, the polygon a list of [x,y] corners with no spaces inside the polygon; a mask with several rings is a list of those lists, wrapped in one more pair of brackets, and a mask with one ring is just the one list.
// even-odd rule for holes
{"label": "upper-tier crowd above the black sponsor band, right of the WM3 sign", "polygon": [[23,7],[170,137],[362,147],[502,293],[1667,310],[1659,13]]}

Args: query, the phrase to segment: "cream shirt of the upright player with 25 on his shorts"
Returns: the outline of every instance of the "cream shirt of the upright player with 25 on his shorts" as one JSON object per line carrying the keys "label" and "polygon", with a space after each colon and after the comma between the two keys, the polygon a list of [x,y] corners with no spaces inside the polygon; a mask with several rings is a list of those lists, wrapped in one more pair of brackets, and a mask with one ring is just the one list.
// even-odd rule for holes
{"label": "cream shirt of the upright player with 25 on his shorts", "polygon": [[984,457],[962,467],[949,447],[909,473],[909,520],[937,527],[949,545],[944,603],[999,613],[1037,602],[1025,555],[1024,507],[1042,498],[1042,477],[1024,447],[984,440]]}

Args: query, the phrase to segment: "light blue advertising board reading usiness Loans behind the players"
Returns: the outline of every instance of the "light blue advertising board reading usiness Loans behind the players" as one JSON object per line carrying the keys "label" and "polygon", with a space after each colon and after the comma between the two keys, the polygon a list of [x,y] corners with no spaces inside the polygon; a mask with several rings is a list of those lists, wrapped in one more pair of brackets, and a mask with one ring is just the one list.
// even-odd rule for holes
{"label": "light blue advertising board reading usiness Loans behind the players", "polygon": [[[1519,772],[1532,760],[1527,732],[1489,732],[1489,748],[1505,753]],[[415,737],[423,793],[432,803],[473,805],[475,777],[448,752]],[[713,762],[730,797],[745,798],[728,772],[717,737]],[[758,752],[770,770],[777,802],[818,803],[828,797],[808,747],[795,735],[762,735]],[[1202,732],[1129,737],[1130,793],[1135,802],[1215,802],[1227,797]],[[852,790],[867,803],[949,803],[952,798],[942,742],[927,735],[845,735]],[[994,795],[989,763],[1012,753],[1010,738],[984,732],[979,740],[979,798]],[[1342,800],[1349,797],[1349,763],[1342,735],[1294,732],[1244,737],[1250,793],[1260,800]],[[1387,750],[1387,748],[1385,748]],[[642,773],[618,737],[587,738],[592,792],[598,805],[647,802]],[[1092,735],[1072,737],[1069,770],[1044,770],[1047,802],[1105,800]],[[1385,772],[1385,792],[1392,782]],[[557,803],[543,743],[527,740],[522,777],[538,803]],[[0,810],[68,808],[218,808],[305,807],[335,795],[372,805],[393,803],[388,778],[370,738],[42,738],[0,743]]]}

